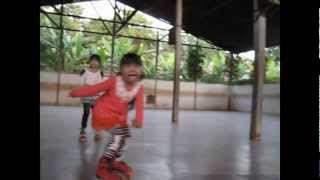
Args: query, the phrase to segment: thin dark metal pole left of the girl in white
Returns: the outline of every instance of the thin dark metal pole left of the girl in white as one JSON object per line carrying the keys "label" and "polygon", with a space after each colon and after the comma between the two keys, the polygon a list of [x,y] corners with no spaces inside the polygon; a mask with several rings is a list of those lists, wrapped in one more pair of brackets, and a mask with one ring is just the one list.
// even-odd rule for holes
{"label": "thin dark metal pole left of the girl in white", "polygon": [[[61,12],[63,12],[63,4],[61,4]],[[62,15],[60,15],[60,47],[59,47],[59,55],[60,55],[60,60],[58,61],[56,105],[59,105],[61,69],[62,69],[61,66],[63,64],[63,16]]]}

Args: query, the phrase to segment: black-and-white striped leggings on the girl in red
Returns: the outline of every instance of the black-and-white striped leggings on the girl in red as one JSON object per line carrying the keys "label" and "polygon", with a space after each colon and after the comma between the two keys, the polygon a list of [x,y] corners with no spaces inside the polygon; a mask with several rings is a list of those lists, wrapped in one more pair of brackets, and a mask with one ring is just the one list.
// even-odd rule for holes
{"label": "black-and-white striped leggings on the girl in red", "polygon": [[131,137],[128,127],[115,126],[111,129],[111,138],[104,148],[104,156],[109,159],[118,159],[121,157],[126,146],[126,139]]}

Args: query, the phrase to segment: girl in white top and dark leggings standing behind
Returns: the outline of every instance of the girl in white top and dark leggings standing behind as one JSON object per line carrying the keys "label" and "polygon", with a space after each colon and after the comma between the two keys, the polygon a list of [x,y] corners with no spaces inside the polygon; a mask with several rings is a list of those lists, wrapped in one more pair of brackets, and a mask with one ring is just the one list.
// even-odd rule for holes
{"label": "girl in white top and dark leggings standing behind", "polygon": [[[92,55],[89,59],[90,66],[81,71],[81,86],[95,85],[103,81],[103,72],[99,70],[101,65],[100,56]],[[90,109],[94,106],[95,100],[98,96],[86,96],[81,99],[83,104],[83,115],[81,120],[81,130],[80,130],[80,142],[86,141],[86,131],[88,124],[88,117],[90,115]],[[100,135],[96,132],[95,140],[100,140]]]}

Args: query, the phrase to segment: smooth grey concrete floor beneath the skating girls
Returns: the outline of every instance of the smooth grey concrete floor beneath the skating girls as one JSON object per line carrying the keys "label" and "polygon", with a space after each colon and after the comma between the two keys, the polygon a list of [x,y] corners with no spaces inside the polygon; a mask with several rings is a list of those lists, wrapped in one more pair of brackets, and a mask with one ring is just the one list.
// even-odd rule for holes
{"label": "smooth grey concrete floor beneath the skating girls", "polygon": [[[89,130],[78,143],[80,107],[40,107],[42,180],[95,180],[105,141],[95,143]],[[146,110],[143,129],[133,129],[125,153],[134,180],[279,180],[280,119],[265,115],[262,140],[248,140],[250,114]]]}

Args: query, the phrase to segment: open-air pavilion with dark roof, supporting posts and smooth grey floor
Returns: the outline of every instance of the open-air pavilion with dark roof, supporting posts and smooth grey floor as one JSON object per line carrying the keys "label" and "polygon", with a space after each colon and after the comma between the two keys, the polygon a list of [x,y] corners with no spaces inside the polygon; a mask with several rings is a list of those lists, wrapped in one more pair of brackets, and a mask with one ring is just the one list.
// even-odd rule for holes
{"label": "open-air pavilion with dark roof, supporting posts and smooth grey floor", "polygon": [[[40,5],[53,6],[73,2],[43,0]],[[175,68],[172,111],[146,110],[144,129],[133,132],[134,136],[126,156],[135,169],[134,179],[280,179],[279,116],[262,114],[264,49],[279,45],[280,2],[267,0],[199,2],[119,0],[119,2],[136,10],[120,21],[95,19],[113,23],[112,29],[106,27],[106,32],[64,28],[62,20],[65,16],[75,19],[87,17],[64,13],[63,5],[60,9],[55,8],[55,12],[46,12],[40,7],[40,12],[49,19],[49,14],[60,16],[60,22],[54,22],[55,27],[41,28],[61,30],[61,37],[64,30],[101,33],[112,36],[114,44],[116,37],[124,36],[118,32],[128,24],[155,28],[129,23],[137,11],[142,11],[174,26],[168,31],[168,35],[171,43],[175,45],[175,67],[180,67],[182,58],[183,44],[180,37],[182,29],[215,45],[203,48],[221,48],[231,53],[255,50],[255,83],[251,114],[180,111],[180,68]],[[116,9],[116,4],[113,7]],[[115,16],[119,16],[116,10],[114,12]],[[128,38],[139,37],[128,36]],[[161,37],[145,40],[162,41]],[[62,42],[59,51],[62,60]],[[112,46],[112,54],[113,51]],[[57,81],[60,81],[59,76]],[[59,95],[57,95],[59,105],[58,97]],[[94,142],[80,145],[76,141],[80,109],[42,106],[40,110],[42,179],[94,179],[95,164],[103,146],[102,143]]]}

